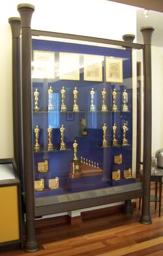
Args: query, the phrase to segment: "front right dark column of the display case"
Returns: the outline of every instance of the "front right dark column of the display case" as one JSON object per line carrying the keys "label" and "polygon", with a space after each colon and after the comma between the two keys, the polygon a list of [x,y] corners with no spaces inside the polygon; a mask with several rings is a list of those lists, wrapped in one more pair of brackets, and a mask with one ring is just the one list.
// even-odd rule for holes
{"label": "front right dark column of the display case", "polygon": [[151,98],[151,38],[153,27],[141,27],[144,42],[144,145],[143,145],[143,203],[140,223],[151,224],[151,136],[152,136],[152,98]]}

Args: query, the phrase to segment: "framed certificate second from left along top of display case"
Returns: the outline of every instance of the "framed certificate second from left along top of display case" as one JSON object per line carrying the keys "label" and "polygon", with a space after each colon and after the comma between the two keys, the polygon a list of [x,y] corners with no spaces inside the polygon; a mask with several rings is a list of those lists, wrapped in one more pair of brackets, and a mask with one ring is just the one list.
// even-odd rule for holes
{"label": "framed certificate second from left along top of display case", "polygon": [[59,53],[59,79],[80,80],[80,55]]}

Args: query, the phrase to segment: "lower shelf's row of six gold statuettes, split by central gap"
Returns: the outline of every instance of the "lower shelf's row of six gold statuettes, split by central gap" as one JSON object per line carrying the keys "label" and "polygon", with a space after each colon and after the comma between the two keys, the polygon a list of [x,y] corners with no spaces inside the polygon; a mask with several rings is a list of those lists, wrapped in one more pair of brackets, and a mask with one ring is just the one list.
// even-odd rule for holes
{"label": "lower shelf's row of six gold statuettes, split by central gap", "polygon": [[[103,140],[102,140],[102,147],[106,148],[109,146],[108,144],[108,140],[106,139],[107,136],[107,126],[106,123],[104,123],[104,126],[102,127],[103,130]],[[53,143],[52,143],[52,127],[48,127],[47,129],[48,131],[48,151],[52,151],[55,150]],[[67,150],[67,146],[64,142],[64,136],[65,136],[65,127],[63,125],[61,125],[60,128],[61,131],[61,144],[60,144],[60,150]],[[128,140],[126,138],[126,131],[128,131],[128,127],[126,126],[126,123],[124,123],[123,125],[123,142],[122,142],[122,146],[128,146]],[[40,144],[38,143],[38,139],[39,139],[39,133],[40,133],[40,129],[37,127],[35,127],[35,145],[34,145],[34,150],[35,152],[40,152],[41,148],[40,148]],[[113,125],[113,144],[112,146],[119,146],[118,140],[116,138],[116,133],[117,133],[117,126]],[[78,144],[77,144],[78,145]]]}

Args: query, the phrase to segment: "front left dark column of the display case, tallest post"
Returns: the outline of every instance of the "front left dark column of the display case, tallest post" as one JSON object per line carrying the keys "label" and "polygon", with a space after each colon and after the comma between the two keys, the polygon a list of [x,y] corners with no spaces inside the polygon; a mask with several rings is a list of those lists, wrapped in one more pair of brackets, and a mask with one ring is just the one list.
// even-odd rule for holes
{"label": "front left dark column of the display case, tallest post", "polygon": [[22,25],[22,116],[23,116],[23,167],[25,179],[26,241],[25,251],[38,250],[35,236],[35,197],[33,177],[33,133],[31,95],[31,17],[33,5],[20,4]]}

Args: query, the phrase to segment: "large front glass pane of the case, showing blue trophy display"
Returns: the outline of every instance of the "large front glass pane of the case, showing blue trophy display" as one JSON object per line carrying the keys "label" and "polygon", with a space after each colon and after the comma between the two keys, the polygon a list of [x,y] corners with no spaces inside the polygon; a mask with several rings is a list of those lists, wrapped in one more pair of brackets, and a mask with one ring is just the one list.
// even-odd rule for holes
{"label": "large front glass pane of the case, showing blue trophy display", "polygon": [[32,45],[35,197],[78,200],[136,183],[141,50],[50,38]]}

